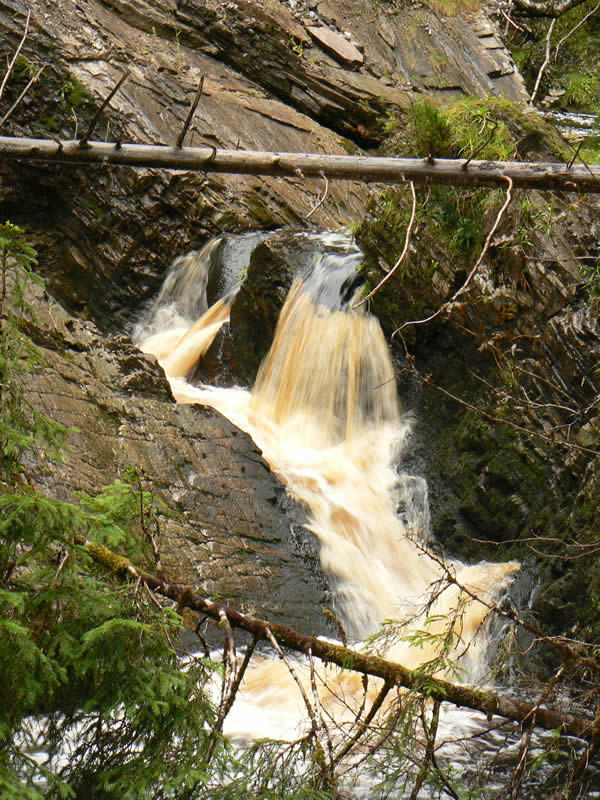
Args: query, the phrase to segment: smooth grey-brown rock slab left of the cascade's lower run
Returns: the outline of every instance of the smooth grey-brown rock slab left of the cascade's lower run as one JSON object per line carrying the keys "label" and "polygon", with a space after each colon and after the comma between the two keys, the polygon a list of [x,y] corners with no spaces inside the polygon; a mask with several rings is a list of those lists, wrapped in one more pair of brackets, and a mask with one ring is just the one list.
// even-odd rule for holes
{"label": "smooth grey-brown rock slab left of the cascade's lower run", "polygon": [[33,468],[62,499],[94,494],[128,465],[167,505],[159,549],[168,580],[306,632],[327,629],[327,583],[303,512],[252,440],[212,409],[177,406],[155,359],[106,339],[38,295],[30,328],[46,365],[38,408],[75,431],[60,468]]}

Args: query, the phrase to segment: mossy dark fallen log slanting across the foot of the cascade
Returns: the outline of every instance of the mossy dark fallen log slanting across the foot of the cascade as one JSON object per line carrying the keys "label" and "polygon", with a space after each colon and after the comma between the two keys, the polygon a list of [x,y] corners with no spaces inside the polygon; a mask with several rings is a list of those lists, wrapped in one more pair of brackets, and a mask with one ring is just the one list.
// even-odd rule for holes
{"label": "mossy dark fallen log slanting across the foot of the cascade", "polygon": [[342,669],[354,670],[363,675],[373,675],[382,678],[390,685],[403,686],[433,700],[480,711],[489,717],[496,714],[514,722],[534,725],[546,730],[559,730],[562,734],[586,740],[594,739],[598,733],[597,723],[592,719],[548,708],[538,703],[504,697],[489,690],[459,686],[431,676],[424,677],[417,671],[409,670],[401,664],[323,641],[314,636],[306,636],[283,625],[265,622],[222,603],[215,603],[189,586],[168,583],[157,575],[137,569],[129,559],[111,552],[103,545],[85,541],[85,546],[94,560],[105,568],[113,572],[131,575],[136,581],[141,580],[152,591],[174,600],[179,608],[190,608],[217,622],[220,622],[225,616],[232,628],[247,631],[253,634],[257,640],[269,641],[268,632],[270,631],[281,646],[297,653],[307,655],[310,651],[314,657],[326,664],[336,664]]}

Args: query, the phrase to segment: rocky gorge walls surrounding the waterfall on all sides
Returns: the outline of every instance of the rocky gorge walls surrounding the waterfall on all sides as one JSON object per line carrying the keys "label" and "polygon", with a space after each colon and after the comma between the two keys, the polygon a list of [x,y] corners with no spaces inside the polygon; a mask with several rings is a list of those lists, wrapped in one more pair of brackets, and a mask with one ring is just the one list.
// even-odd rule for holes
{"label": "rocky gorge walls surrounding the waterfall on all sides", "polygon": [[[24,19],[24,3],[0,0],[9,53]],[[98,138],[173,144],[201,77],[203,96],[187,142],[258,150],[362,152],[387,141],[391,121],[408,118],[423,97],[442,103],[470,95],[517,104],[526,99],[484,11],[443,17],[421,4],[39,0],[23,57],[3,98],[7,104],[26,82],[28,65],[47,67],[5,126],[4,133],[15,135],[81,135],[125,67],[130,78],[101,117]],[[496,113],[508,115],[506,109]],[[513,128],[516,157],[540,147],[552,151],[537,134],[532,143],[531,130],[516,122]],[[164,521],[162,545],[171,575],[309,632],[324,629],[326,581],[314,553],[307,567],[290,534],[283,487],[248,437],[218,414],[175,407],[156,363],[126,335],[173,258],[224,231],[339,230],[362,222],[358,236],[376,281],[383,274],[380,260],[393,263],[402,247],[404,196],[388,202],[383,187],[332,181],[325,202],[307,219],[322,192],[320,181],[302,176],[0,165],[2,214],[27,229],[48,291],[63,306],[39,299],[43,313],[32,336],[44,346],[48,367],[36,375],[32,392],[43,410],[79,428],[67,465],[40,472],[40,481],[68,495],[93,490],[136,464],[174,512]],[[544,426],[569,426],[568,436],[593,450],[597,306],[580,261],[597,257],[598,216],[591,201],[580,200],[589,213],[571,197],[557,198],[550,210],[538,196],[528,199],[528,211],[523,205],[515,210],[515,203],[472,302],[408,342],[422,375],[465,401],[481,405],[489,394],[482,378],[491,384],[493,402],[484,410],[492,418],[503,413],[502,392],[516,392],[510,380],[519,392],[533,392],[534,403],[554,406],[568,405],[552,388],[561,387],[573,398],[575,415],[554,409],[556,419],[535,424],[549,438],[564,431]],[[480,228],[491,224],[491,208]],[[406,269],[373,306],[388,334],[448,298],[472,263],[468,247],[460,253],[423,220]],[[276,248],[266,248],[249,273],[277,281],[281,270]],[[526,342],[527,361],[519,366],[538,376],[531,385],[522,372],[509,374],[505,352],[515,342],[519,348]],[[405,352],[401,343],[394,346],[402,375]],[[418,416],[434,530],[450,552],[497,558],[495,548],[474,540],[499,539],[508,554],[531,530],[560,534],[561,541],[593,535],[597,458],[556,450],[473,414],[414,374],[400,377],[399,385]],[[527,410],[518,410],[519,424]],[[301,510],[293,515],[301,523]],[[540,566],[535,558],[532,574]],[[574,606],[559,619],[548,601],[540,606],[542,616],[563,629],[587,626],[595,635],[578,608],[592,603],[596,578],[586,581],[564,560],[544,569],[538,594],[552,586],[564,608],[554,588],[562,581],[563,596]],[[296,588],[288,592],[288,586]]]}

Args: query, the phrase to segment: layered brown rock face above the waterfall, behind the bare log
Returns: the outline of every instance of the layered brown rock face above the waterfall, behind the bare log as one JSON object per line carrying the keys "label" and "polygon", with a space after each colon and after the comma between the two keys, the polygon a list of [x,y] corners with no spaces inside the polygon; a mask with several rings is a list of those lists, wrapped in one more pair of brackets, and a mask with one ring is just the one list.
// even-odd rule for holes
{"label": "layered brown rock face above the waterfall, behind the bare log", "polygon": [[[70,0],[39,0],[23,55],[49,66],[5,132],[81,135],[125,68],[130,77],[97,138],[174,144],[202,77],[187,143],[256,150],[355,152],[376,144],[380,120],[424,90],[442,99],[524,97],[506,52],[495,40],[490,49],[483,12],[465,24],[395,3],[375,10],[369,0],[294,8],[283,0],[83,0],[74,10]],[[2,9],[10,53],[26,8],[4,0]],[[363,62],[355,56],[352,68],[341,65],[309,28],[360,50]],[[7,102],[21,83],[9,85]],[[323,186],[300,175],[14,165],[1,174],[3,213],[31,230],[50,289],[111,331],[131,321],[177,255],[210,236],[285,225],[338,229],[360,218],[368,197],[364,186],[332,182],[307,223]]]}

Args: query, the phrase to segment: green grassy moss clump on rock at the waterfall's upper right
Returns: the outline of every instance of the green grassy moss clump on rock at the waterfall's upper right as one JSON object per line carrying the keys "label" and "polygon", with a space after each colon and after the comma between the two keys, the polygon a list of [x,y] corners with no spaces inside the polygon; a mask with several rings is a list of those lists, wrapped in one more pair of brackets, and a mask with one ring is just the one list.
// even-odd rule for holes
{"label": "green grassy moss clump on rock at the waterfall's upper right", "polygon": [[[565,143],[536,114],[492,97],[468,97],[447,108],[424,99],[404,115],[388,119],[385,130],[388,139],[384,152],[391,155],[498,161],[529,159],[532,153],[551,160],[569,156]],[[456,269],[448,268],[449,257],[455,266],[460,264],[465,269],[472,263],[504,193],[498,189],[432,185],[420,189],[419,197],[414,229],[419,255],[408,258],[397,277],[398,282],[408,281],[415,290],[422,287],[409,292],[419,298],[412,308],[414,315],[427,313],[427,285],[434,276],[438,284],[446,282],[450,291]],[[527,207],[532,203],[535,224],[532,220],[523,222],[527,236],[519,242],[521,246],[530,243],[530,228],[541,226],[546,213],[532,199],[527,201]],[[402,189],[386,189],[371,199],[369,219],[358,226],[357,237],[366,251],[368,266],[377,274],[379,262],[389,267],[401,252],[409,216],[409,198]],[[519,228],[518,223],[516,227]],[[381,302],[385,302],[383,298]],[[384,319],[393,310],[390,307],[384,311]]]}

